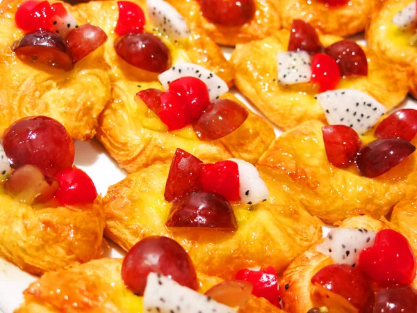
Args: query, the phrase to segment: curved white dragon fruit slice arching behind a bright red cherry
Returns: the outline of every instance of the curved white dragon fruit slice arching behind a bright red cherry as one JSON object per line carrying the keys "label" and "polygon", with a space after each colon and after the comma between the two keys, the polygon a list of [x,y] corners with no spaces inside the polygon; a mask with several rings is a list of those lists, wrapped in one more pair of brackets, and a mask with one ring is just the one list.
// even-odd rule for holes
{"label": "curved white dragon fruit slice arching behind a bright red cherry", "polygon": [[227,87],[227,83],[224,80],[206,68],[194,63],[179,63],[159,74],[158,79],[163,88],[167,90],[168,85],[172,81],[181,77],[195,77],[202,80],[208,88],[211,100],[218,99],[218,97],[229,91],[229,87]]}

